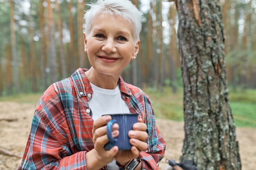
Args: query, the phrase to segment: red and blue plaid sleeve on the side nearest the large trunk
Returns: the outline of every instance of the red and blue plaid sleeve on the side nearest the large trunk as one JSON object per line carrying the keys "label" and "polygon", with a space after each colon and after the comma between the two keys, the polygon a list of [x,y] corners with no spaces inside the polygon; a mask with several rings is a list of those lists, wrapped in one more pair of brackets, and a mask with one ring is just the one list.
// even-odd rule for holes
{"label": "red and blue plaid sleeve on the side nearest the large trunk", "polygon": [[141,159],[141,169],[158,170],[159,162],[164,157],[166,144],[156,126],[153,107],[147,95],[146,105],[148,106],[146,106],[147,111],[144,115],[144,121],[148,127],[148,140],[146,141],[148,143],[148,150],[139,153],[139,157]]}

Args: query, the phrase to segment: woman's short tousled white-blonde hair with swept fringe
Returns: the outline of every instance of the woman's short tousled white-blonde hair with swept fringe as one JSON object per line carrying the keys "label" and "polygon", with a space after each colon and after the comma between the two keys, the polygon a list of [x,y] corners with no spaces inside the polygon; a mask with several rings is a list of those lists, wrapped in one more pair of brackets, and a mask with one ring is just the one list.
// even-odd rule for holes
{"label": "woman's short tousled white-blonde hair with swept fringe", "polygon": [[92,27],[92,21],[99,13],[108,13],[117,15],[132,24],[133,39],[137,43],[139,41],[139,33],[141,31],[142,13],[129,0],[98,0],[95,4],[87,4],[88,9],[84,15],[85,34],[89,35]]}

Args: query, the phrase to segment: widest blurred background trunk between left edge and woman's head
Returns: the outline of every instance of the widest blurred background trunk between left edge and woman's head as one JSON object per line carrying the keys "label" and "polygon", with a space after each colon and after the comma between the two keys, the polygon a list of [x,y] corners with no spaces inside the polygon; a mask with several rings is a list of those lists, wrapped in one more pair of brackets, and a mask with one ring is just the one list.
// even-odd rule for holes
{"label": "widest blurred background trunk between left edge and woman's head", "polygon": [[49,28],[49,68],[50,68],[50,80],[51,83],[57,81],[57,62],[56,62],[56,49],[54,39],[54,20],[53,10],[51,7],[51,0],[47,0],[48,9],[48,28]]}

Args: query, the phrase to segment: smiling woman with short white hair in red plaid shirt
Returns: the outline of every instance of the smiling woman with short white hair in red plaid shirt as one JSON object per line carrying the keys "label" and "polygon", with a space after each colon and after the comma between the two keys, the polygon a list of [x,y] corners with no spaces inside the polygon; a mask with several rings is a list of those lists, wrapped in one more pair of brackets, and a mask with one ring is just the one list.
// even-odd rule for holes
{"label": "smiling woman with short white hair in red plaid shirt", "polygon": [[[141,13],[129,0],[99,0],[85,14],[85,52],[92,67],[79,68],[41,96],[19,170],[157,170],[164,139],[148,96],[121,72],[139,51]],[[139,113],[129,131],[131,150],[105,150],[109,113]],[[113,137],[119,135],[113,126]],[[132,164],[131,163],[131,164]]]}

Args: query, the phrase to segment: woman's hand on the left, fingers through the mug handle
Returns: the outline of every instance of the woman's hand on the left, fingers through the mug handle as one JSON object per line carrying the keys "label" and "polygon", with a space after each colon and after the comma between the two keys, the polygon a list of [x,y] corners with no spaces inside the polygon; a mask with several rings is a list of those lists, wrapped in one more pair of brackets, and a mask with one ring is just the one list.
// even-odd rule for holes
{"label": "woman's hand on the left, fingers through the mug handle", "polygon": [[[110,150],[105,150],[104,145],[109,141],[107,137],[107,126],[108,121],[111,120],[111,116],[102,116],[99,119],[95,120],[93,123],[92,129],[92,141],[94,143],[94,155],[98,161],[104,162],[105,165],[110,163],[114,156],[118,152],[118,147],[114,146]],[[119,135],[118,124],[114,124],[112,126],[112,136],[117,137]]]}

